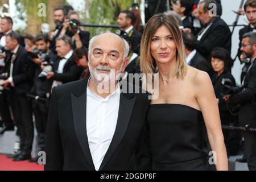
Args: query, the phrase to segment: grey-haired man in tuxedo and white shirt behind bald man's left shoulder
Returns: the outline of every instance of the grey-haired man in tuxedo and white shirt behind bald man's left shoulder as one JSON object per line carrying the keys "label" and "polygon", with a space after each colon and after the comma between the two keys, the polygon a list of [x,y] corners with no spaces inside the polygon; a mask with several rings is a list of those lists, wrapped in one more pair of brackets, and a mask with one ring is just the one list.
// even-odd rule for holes
{"label": "grey-haired man in tuxedo and white shirt behind bald man's left shoulder", "polygon": [[47,80],[53,80],[52,87],[79,80],[82,68],[74,61],[71,38],[65,35],[57,38],[56,52],[58,56],[53,61],[53,70],[47,73]]}

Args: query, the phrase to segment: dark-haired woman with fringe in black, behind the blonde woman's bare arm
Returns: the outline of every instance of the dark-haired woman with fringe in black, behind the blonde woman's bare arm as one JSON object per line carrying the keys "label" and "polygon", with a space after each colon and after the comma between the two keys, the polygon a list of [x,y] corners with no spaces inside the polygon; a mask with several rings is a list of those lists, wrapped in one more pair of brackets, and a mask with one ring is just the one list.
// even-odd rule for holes
{"label": "dark-haired woman with fringe in black, behind the blonde woman's bare arm", "polygon": [[[230,53],[221,47],[214,48],[210,57],[212,68],[215,72],[212,76],[212,84],[218,102],[218,109],[220,110],[221,124],[230,125],[233,122],[234,117],[232,114],[230,114],[228,105],[223,98],[224,95],[229,94],[229,89],[222,84],[222,80],[229,82],[229,86],[236,86],[236,80],[229,71],[229,68],[232,68],[233,60],[230,57]],[[229,130],[223,130],[224,142],[228,155],[230,152],[230,147],[232,147],[229,144],[229,134]]]}

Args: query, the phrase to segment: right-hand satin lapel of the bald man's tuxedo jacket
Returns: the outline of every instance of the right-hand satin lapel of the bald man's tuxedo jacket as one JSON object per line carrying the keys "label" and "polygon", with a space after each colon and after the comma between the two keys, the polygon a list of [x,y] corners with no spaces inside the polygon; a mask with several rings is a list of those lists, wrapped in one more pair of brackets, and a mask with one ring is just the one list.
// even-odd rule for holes
{"label": "right-hand satin lapel of the bald man's tuxedo jacket", "polygon": [[121,142],[123,136],[125,135],[127,126],[129,124],[131,114],[133,113],[133,107],[135,104],[136,97],[131,97],[131,94],[120,94],[120,104],[117,118],[117,126],[115,127],[115,132],[112,138],[112,142],[106,152],[104,159],[102,160],[99,170],[102,170],[110,157],[113,155],[114,151],[117,149],[118,144]]}

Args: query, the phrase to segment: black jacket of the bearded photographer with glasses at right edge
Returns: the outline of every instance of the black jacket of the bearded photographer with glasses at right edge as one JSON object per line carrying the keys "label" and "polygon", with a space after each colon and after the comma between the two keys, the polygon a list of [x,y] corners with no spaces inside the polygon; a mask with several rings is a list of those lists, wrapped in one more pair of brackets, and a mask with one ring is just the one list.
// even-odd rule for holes
{"label": "black jacket of the bearded photographer with glasses at right edge", "polygon": [[230,96],[230,104],[241,105],[239,122],[241,126],[249,124],[256,127],[256,62],[245,75],[244,87],[240,93]]}

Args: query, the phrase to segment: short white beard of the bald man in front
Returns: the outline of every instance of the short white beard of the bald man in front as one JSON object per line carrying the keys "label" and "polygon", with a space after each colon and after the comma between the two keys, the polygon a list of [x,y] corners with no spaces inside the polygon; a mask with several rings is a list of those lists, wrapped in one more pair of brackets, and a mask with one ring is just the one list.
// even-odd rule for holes
{"label": "short white beard of the bald man in front", "polygon": [[[101,82],[109,82],[110,83],[111,80],[114,82],[117,81],[117,79],[118,79],[117,75],[122,72],[123,63],[118,71],[115,71],[114,69],[110,69],[109,67],[103,66],[103,65],[98,65],[96,68],[92,68],[90,65],[90,61],[88,63],[88,67],[89,67],[90,75],[92,76],[92,80],[98,85]],[[102,72],[98,71],[97,69],[109,71],[109,73],[102,73]],[[112,71],[114,71],[114,74],[112,73]]]}

